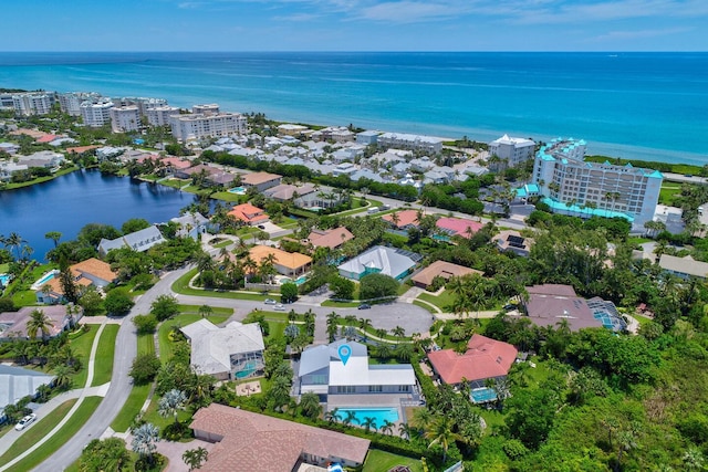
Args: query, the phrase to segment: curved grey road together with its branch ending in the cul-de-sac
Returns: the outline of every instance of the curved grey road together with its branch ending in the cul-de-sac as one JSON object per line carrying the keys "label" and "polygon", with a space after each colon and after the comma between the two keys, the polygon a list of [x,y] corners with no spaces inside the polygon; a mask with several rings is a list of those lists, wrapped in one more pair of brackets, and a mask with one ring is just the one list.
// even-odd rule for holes
{"label": "curved grey road together with its branch ending in the cul-de-sac", "polygon": [[[169,272],[136,301],[135,306],[131,313],[125,316],[121,324],[121,328],[118,329],[118,335],[115,342],[116,352],[113,361],[113,376],[111,378],[111,386],[107,395],[79,432],[52,457],[35,468],[34,471],[56,472],[64,470],[81,455],[81,451],[88,441],[101,438],[101,436],[108,429],[115,417],[123,408],[123,405],[127,400],[131,389],[133,388],[132,380],[128,377],[133,359],[137,354],[137,334],[135,332],[135,326],[132,323],[133,317],[135,315],[149,313],[150,305],[158,296],[174,295],[171,291],[173,283],[175,283],[175,281],[184,275],[189,269],[191,268]],[[266,305],[263,302],[257,301],[194,295],[176,295],[176,297],[179,303],[183,304],[208,304],[210,306],[233,308],[235,318],[237,319],[242,319],[254,308],[264,311],[272,310],[271,305]],[[308,303],[306,301],[287,305],[288,311],[290,311],[291,307],[299,313],[312,310],[317,315],[315,318],[315,333],[317,335],[317,340],[321,342],[326,342],[326,339],[319,338],[325,336],[326,315],[332,312],[336,312],[342,317],[354,314],[358,318],[369,318],[372,321],[372,325],[377,328],[386,328],[391,331],[396,326],[402,326],[406,329],[407,335],[410,335],[412,333],[427,333],[430,324],[433,323],[433,317],[426,310],[413,304],[399,302],[386,305],[374,305],[371,310],[365,311],[360,311],[357,308],[319,306],[314,303]]]}

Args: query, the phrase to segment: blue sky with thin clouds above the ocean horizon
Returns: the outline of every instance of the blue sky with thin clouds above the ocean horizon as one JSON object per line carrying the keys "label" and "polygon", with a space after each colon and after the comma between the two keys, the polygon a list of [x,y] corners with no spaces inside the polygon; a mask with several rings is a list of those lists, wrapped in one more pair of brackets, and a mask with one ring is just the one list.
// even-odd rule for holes
{"label": "blue sky with thin clouds above the ocean horizon", "polygon": [[708,0],[17,0],[3,51],[707,51]]}

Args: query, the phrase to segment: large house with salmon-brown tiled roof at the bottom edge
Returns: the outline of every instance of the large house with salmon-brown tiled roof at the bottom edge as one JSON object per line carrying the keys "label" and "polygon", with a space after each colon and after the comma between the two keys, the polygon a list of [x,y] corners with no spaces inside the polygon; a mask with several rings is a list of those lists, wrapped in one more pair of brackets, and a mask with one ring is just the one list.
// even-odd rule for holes
{"label": "large house with salmon-brown tiled roof at the bottom edge", "polygon": [[217,444],[199,469],[230,472],[291,472],[302,464],[330,463],[357,468],[366,460],[371,441],[211,403],[189,424],[197,439]]}

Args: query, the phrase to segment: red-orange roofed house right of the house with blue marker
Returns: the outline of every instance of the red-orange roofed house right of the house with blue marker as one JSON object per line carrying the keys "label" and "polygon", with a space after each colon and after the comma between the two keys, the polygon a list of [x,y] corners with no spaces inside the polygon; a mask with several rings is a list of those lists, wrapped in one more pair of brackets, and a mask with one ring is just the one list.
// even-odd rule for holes
{"label": "red-orange roofed house right of the house with blue marker", "polygon": [[519,352],[511,344],[475,334],[467,343],[467,352],[431,350],[428,360],[445,384],[459,386],[466,379],[471,388],[485,387],[488,378],[502,379],[517,360]]}

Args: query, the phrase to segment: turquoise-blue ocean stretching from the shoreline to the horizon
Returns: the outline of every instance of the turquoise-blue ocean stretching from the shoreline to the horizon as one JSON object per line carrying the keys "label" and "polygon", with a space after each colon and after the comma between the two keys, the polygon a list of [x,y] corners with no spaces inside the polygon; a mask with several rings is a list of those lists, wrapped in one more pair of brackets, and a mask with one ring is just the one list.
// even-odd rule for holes
{"label": "turquoise-blue ocean stretching from the shoreline to the horizon", "polygon": [[708,53],[0,53],[0,86],[708,164]]}

